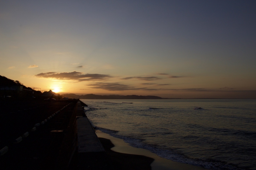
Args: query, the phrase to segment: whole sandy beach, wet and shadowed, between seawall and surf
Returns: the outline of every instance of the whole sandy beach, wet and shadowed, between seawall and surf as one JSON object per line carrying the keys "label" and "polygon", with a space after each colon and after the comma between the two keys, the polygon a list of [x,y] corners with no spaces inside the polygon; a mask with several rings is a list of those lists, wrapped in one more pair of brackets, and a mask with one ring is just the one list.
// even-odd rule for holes
{"label": "whole sandy beach, wet and shadowed, between seawall and surf", "polygon": [[114,138],[99,130],[96,130],[96,134],[104,146],[107,155],[110,157],[110,160],[115,161],[117,165],[119,164],[119,168],[121,169],[205,170],[205,168],[199,166],[161,158],[147,149],[132,147],[122,139]]}

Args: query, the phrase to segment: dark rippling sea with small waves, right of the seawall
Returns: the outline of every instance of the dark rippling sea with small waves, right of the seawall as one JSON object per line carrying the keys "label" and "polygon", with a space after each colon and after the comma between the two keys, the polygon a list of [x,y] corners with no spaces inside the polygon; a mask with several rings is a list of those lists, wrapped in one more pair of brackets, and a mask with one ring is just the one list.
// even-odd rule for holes
{"label": "dark rippling sea with small waves, right of the seawall", "polygon": [[255,99],[82,101],[95,108],[86,115],[97,129],[131,146],[208,169],[256,170]]}

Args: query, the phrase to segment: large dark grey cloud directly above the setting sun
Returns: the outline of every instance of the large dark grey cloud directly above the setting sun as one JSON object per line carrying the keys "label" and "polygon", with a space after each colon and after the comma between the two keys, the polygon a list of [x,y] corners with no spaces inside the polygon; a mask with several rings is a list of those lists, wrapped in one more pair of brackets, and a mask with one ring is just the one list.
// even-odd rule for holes
{"label": "large dark grey cloud directly above the setting sun", "polygon": [[104,74],[84,74],[82,72],[63,72],[63,73],[55,73],[55,72],[48,72],[48,73],[40,73],[35,75],[36,77],[42,78],[53,78],[59,80],[77,80],[79,82],[82,81],[94,81],[94,80],[105,80],[107,78],[111,78],[110,75]]}

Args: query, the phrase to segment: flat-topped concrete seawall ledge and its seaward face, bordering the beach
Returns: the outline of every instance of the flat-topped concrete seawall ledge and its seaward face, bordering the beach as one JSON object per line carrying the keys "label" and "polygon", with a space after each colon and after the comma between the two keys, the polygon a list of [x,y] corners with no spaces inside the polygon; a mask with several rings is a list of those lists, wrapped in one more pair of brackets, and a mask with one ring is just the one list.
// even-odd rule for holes
{"label": "flat-topped concrete seawall ledge and its seaward face, bordering the beach", "polygon": [[77,149],[73,155],[69,169],[106,169],[108,161],[106,152],[100,143],[94,128],[85,115],[82,101],[77,102],[76,130]]}

